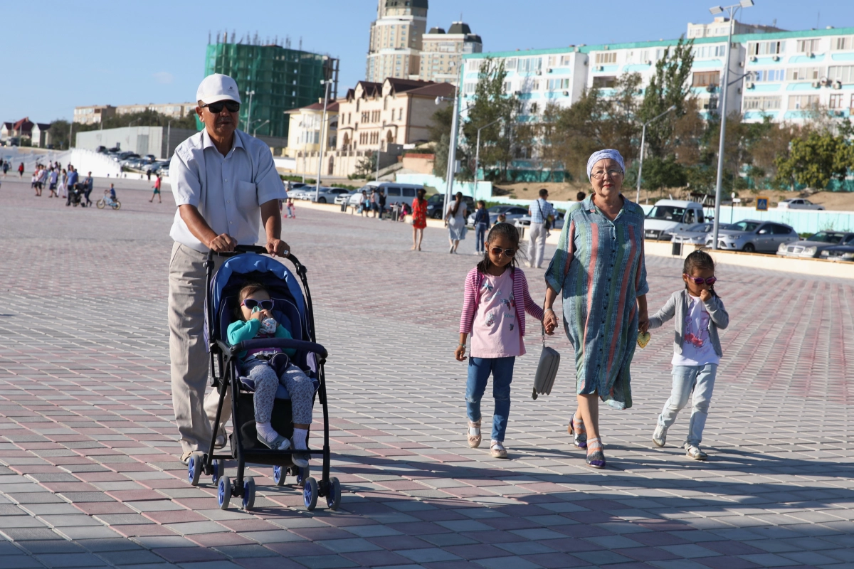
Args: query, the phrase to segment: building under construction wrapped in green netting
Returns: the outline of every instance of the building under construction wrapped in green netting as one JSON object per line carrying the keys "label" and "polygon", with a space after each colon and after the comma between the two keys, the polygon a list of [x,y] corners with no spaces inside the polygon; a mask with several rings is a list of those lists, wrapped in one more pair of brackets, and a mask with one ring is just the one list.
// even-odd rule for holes
{"label": "building under construction wrapped in green netting", "polygon": [[[338,60],[290,49],[290,39],[285,47],[244,36],[235,41],[235,34],[217,34],[215,44],[208,42],[205,58],[205,76],[224,73],[237,81],[240,88],[240,129],[264,138],[281,138],[285,146],[288,136],[289,115],[284,112],[305,107],[323,100],[325,79],[330,80],[329,95],[335,100],[338,93]],[[301,46],[300,46],[301,47]],[[249,92],[254,93],[250,96]]]}

